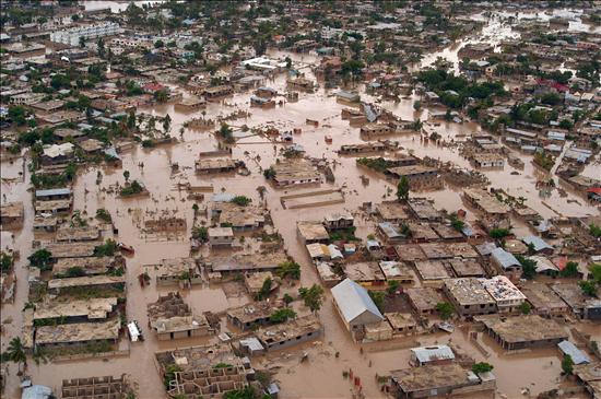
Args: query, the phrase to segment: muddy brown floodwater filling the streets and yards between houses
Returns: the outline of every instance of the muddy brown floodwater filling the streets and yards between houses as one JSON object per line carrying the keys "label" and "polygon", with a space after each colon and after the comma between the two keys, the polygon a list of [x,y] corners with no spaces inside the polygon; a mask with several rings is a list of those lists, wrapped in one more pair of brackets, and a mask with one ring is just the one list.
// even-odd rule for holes
{"label": "muddy brown floodwater filling the streets and yards between houses", "polygon": [[[485,27],[486,30],[486,27]],[[461,44],[459,44],[461,46]],[[447,49],[439,51],[445,54]],[[455,52],[457,54],[457,52]],[[274,52],[273,56],[284,54]],[[311,63],[316,58],[308,55],[290,55],[295,62]],[[433,55],[436,59],[436,55]],[[314,78],[308,68],[303,69],[307,77]],[[274,80],[266,82],[279,92],[285,91],[285,77],[280,75]],[[361,89],[361,87],[360,87]],[[363,186],[361,175],[367,174],[364,169],[355,166],[354,157],[338,156],[334,152],[342,144],[362,142],[358,128],[349,126],[349,122],[340,117],[341,110],[345,107],[337,103],[332,94],[335,91],[318,90],[315,94],[300,93],[299,101],[287,103],[284,106],[276,106],[272,109],[249,108],[250,93],[236,94],[223,103],[209,104],[205,109],[208,118],[215,118],[220,115],[227,115],[237,109],[249,109],[251,116],[247,119],[237,119],[229,125],[235,129],[243,125],[248,127],[274,126],[282,130],[300,128],[300,134],[294,136],[294,142],[302,144],[307,154],[313,157],[326,159],[331,164],[335,176],[335,183],[322,184],[321,188],[339,187],[343,189],[345,202],[343,204],[308,208],[298,210],[285,210],[280,203],[280,196],[290,193],[293,190],[274,189],[264,180],[262,168],[274,163],[279,151],[285,144],[273,144],[261,137],[240,139],[233,150],[233,157],[246,163],[250,176],[240,175],[213,175],[198,176],[193,173],[193,163],[200,151],[216,149],[217,141],[210,132],[200,132],[186,129],[179,136],[182,124],[191,117],[200,117],[201,113],[180,114],[174,110],[173,105],[157,105],[154,107],[139,109],[141,113],[155,116],[169,114],[172,117],[172,136],[177,137],[176,144],[158,146],[151,150],[135,148],[122,154],[122,168],[90,167],[80,171],[74,190],[74,209],[79,209],[84,215],[93,216],[97,209],[105,208],[114,219],[119,230],[119,240],[132,245],[135,255],[128,258],[128,319],[137,319],[142,327],[146,340],[130,344],[129,357],[114,357],[108,360],[94,360],[70,363],[52,363],[47,365],[35,365],[30,361],[27,373],[33,377],[35,384],[44,384],[58,391],[63,378],[120,375],[127,373],[137,382],[140,398],[164,397],[161,378],[154,363],[154,352],[181,348],[190,344],[202,344],[215,342],[216,338],[196,338],[177,340],[172,342],[158,342],[146,326],[146,305],[156,301],[158,294],[165,294],[169,289],[156,289],[154,281],[148,287],[138,284],[137,277],[144,271],[144,265],[160,262],[164,258],[189,256],[189,240],[193,223],[192,200],[188,200],[186,191],[178,191],[177,183],[190,183],[192,186],[212,185],[214,192],[231,192],[250,197],[255,203],[260,203],[257,191],[258,186],[268,188],[264,202],[268,204],[273,219],[274,227],[284,237],[287,253],[302,265],[302,285],[318,283],[319,278],[311,267],[305,248],[300,245],[296,235],[296,222],[299,220],[320,220],[332,211],[345,209],[357,212],[357,209],[367,201],[379,202],[385,199],[394,198],[394,187],[375,175],[370,176],[368,186]],[[363,96],[363,95],[362,95]],[[363,96],[370,99],[369,96]],[[402,99],[400,103],[382,102],[379,106],[391,110],[403,119],[427,118],[427,109],[415,113],[412,108],[416,97]],[[314,128],[305,124],[305,119],[316,119],[319,127]],[[160,125],[160,124],[158,124]],[[440,126],[428,126],[428,130],[436,130],[444,141],[450,142],[464,134],[478,131],[480,128],[471,122],[447,124]],[[326,143],[325,136],[329,134],[333,142]],[[399,141],[403,151],[412,152],[417,156],[431,156],[441,161],[450,161],[464,168],[471,168],[467,160],[461,157],[456,148],[437,145],[421,140],[419,133],[398,134],[392,138]],[[530,161],[531,156],[522,155],[525,168],[514,169],[506,165],[503,171],[490,171],[484,174],[491,179],[492,187],[502,188],[515,196],[527,198],[526,203],[538,210],[543,216],[550,218],[557,214],[582,216],[587,214],[599,214],[599,210],[589,206],[586,200],[576,193],[567,190],[562,197],[553,191],[551,197],[541,198],[535,189],[538,179],[544,178],[545,174],[535,169]],[[143,163],[143,167],[141,164]],[[178,171],[172,173],[170,165],[177,164]],[[125,181],[122,172],[130,172],[130,179],[142,181],[151,192],[150,197],[120,199],[115,192],[109,192],[115,185],[122,185]],[[22,308],[26,302],[27,271],[25,269],[26,257],[32,251],[33,208],[31,193],[28,192],[30,173],[23,167],[21,161],[13,164],[2,164],[2,177],[17,177],[24,173],[24,183],[2,183],[2,193],[7,201],[22,200],[25,206],[25,223],[20,232],[12,235],[2,232],[2,247],[17,248],[21,251],[21,260],[16,263],[17,290],[14,305],[4,305],[2,308],[2,345],[4,351],[8,341],[20,335],[22,326]],[[96,183],[98,172],[102,180]],[[518,172],[518,175],[512,175]],[[297,191],[296,189],[294,190]],[[455,211],[466,208],[460,198],[461,188],[449,187],[445,190],[412,193],[425,196],[435,201],[436,207]],[[156,218],[158,214],[169,214],[187,220],[187,232],[177,239],[146,239],[140,232],[140,223],[144,219]],[[468,219],[474,220],[475,214],[468,209]],[[357,235],[366,237],[374,232],[373,222],[367,221],[357,214]],[[518,223],[516,223],[518,224]],[[296,291],[297,287],[281,287],[280,294]],[[223,313],[231,306],[239,306],[248,301],[246,296],[227,297],[224,291],[214,284],[196,286],[184,293],[195,313],[205,310]],[[354,374],[362,378],[363,392],[367,397],[382,397],[376,384],[376,374],[386,375],[391,369],[404,368],[408,365],[409,351],[406,349],[394,349],[388,351],[373,352],[367,348],[361,350],[361,344],[351,340],[350,335],[342,325],[335,313],[331,296],[327,294],[322,309],[319,312],[320,319],[325,326],[325,339],[322,342],[307,344],[304,350],[309,354],[309,361],[299,363],[299,351],[288,351],[284,354],[270,355],[268,360],[258,361],[264,367],[279,367],[275,379],[282,385],[283,398],[332,398],[350,397],[353,392],[347,379],[342,376],[343,371],[353,369]],[[227,326],[222,322],[222,330]],[[420,344],[447,342],[461,347],[476,360],[485,360],[483,354],[468,340],[461,329],[457,329],[451,336],[434,335],[409,338],[409,341],[417,341]],[[553,387],[562,386],[559,376],[559,357],[554,350],[537,350],[519,355],[503,353],[498,345],[485,337],[479,338],[482,347],[490,353],[486,361],[494,364],[495,374],[498,376],[497,389],[509,398],[520,396],[522,387],[529,387],[535,394]],[[339,353],[337,356],[335,353]],[[17,397],[19,379],[16,367],[10,365],[7,397]]]}

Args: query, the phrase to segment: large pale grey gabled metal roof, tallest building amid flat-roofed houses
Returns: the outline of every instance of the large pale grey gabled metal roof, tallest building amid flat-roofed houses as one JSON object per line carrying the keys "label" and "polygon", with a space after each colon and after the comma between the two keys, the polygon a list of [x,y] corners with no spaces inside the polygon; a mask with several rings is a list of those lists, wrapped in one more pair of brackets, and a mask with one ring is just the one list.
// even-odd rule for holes
{"label": "large pale grey gabled metal roof, tallest building amid flat-roofed houses", "polygon": [[364,312],[369,312],[380,320],[384,320],[384,316],[380,310],[378,310],[374,301],[369,297],[367,290],[353,280],[346,279],[331,291],[338,308],[346,322],[353,321]]}

